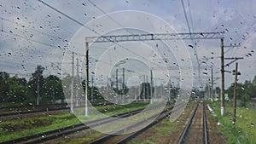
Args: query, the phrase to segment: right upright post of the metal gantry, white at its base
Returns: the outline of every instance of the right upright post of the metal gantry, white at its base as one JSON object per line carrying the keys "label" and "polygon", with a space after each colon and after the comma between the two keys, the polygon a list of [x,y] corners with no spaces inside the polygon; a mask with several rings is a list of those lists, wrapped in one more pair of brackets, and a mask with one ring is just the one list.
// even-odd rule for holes
{"label": "right upright post of the metal gantry, white at its base", "polygon": [[220,114],[221,116],[224,116],[225,112],[225,104],[224,104],[224,38],[220,38],[220,59],[221,59],[221,95],[220,95],[220,101],[221,101],[221,106],[220,106]]}

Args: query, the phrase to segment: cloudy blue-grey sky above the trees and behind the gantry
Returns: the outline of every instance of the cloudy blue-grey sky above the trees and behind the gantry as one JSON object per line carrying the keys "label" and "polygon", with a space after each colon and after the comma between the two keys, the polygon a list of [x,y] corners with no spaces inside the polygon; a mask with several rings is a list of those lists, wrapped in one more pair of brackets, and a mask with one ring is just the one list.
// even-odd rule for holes
{"label": "cloudy blue-grey sky above the trees and behind the gantry", "polygon": [[[84,37],[129,34],[127,29],[130,28],[132,34],[143,32],[182,33],[189,32],[189,29],[190,32],[224,32],[225,46],[229,46],[230,43],[233,45],[240,43],[240,47],[224,48],[225,57],[244,58],[238,60],[241,72],[239,82],[252,80],[256,75],[256,1],[44,0],[43,2],[37,0],[0,1],[0,71],[25,77],[34,72],[37,65],[42,65],[45,67],[45,77],[49,74],[60,76],[61,71],[58,68],[61,68],[62,61],[65,62],[64,69],[72,66],[72,51],[76,53],[75,59],[79,58],[80,62],[83,61]],[[132,16],[130,12],[122,13],[121,11],[124,10],[137,11],[138,14],[132,14]],[[198,65],[195,53],[202,67],[201,83],[205,83],[210,77],[211,71],[207,66],[213,66],[214,77],[220,77],[219,39],[166,42],[173,46],[169,48],[171,51],[167,54],[163,50],[165,44],[161,45],[161,43],[143,44],[148,44],[148,47],[157,45],[158,48],[154,48],[153,51],[158,50],[160,56],[167,59],[167,64],[164,66],[182,65],[182,61],[187,62],[185,64],[187,66],[191,61],[194,66],[193,72],[185,69],[184,71],[195,75],[195,85],[198,85],[198,70],[196,68]],[[139,44],[137,43],[137,45]],[[108,54],[106,49],[117,49],[109,43],[94,44],[91,48],[93,46],[95,49],[105,48],[90,53],[90,62],[95,67],[96,62],[101,61],[99,59],[102,54]],[[120,45],[116,47],[118,46]],[[176,49],[175,46],[177,46]],[[179,52],[176,53],[176,50]],[[109,57],[115,57],[124,52],[124,50],[113,51],[109,53]],[[142,61],[150,55],[153,56],[153,54],[144,54],[143,50],[138,50],[135,53],[133,54],[139,55]],[[114,66],[114,60],[111,60],[107,59],[105,62],[113,62]],[[148,60],[151,59],[148,58]],[[115,61],[115,63],[117,62]],[[160,63],[158,60],[154,62]],[[226,64],[229,62],[230,60],[225,60]],[[234,64],[225,67],[226,70],[235,69]],[[70,72],[69,70],[67,68],[67,73]],[[90,71],[93,72],[93,70]],[[226,73],[225,77],[227,87],[233,82],[234,76],[231,73]],[[219,85],[219,80],[216,83]]]}

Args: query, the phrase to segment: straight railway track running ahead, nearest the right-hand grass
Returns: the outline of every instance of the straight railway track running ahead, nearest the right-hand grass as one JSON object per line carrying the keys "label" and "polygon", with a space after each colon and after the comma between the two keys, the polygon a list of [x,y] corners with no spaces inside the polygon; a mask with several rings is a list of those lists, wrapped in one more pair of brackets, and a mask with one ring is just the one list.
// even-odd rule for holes
{"label": "straight railway track running ahead, nearest the right-hand grass", "polygon": [[182,135],[179,137],[178,144],[207,144],[207,115],[205,112],[204,102],[200,102],[195,106],[194,111],[189,117],[189,121],[183,129]]}

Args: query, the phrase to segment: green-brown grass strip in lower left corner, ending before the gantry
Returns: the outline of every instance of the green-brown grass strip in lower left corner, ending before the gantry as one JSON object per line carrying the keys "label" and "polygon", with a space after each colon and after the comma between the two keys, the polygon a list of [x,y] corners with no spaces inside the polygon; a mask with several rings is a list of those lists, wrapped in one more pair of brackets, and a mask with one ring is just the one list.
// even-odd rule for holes
{"label": "green-brown grass strip in lower left corner, ending before the gantry", "polygon": [[34,135],[79,123],[79,119],[75,118],[72,113],[6,121],[0,123],[0,142],[10,141],[26,135]]}

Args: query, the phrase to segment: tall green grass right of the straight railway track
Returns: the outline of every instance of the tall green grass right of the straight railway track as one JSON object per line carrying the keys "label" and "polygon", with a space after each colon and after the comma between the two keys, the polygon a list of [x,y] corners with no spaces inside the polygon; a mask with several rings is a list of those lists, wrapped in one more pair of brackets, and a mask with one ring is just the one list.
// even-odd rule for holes
{"label": "tall green grass right of the straight railway track", "polygon": [[256,141],[256,109],[247,107],[237,107],[236,109],[236,125],[233,121],[233,105],[226,102],[226,112],[224,117],[220,116],[220,102],[210,103],[213,111],[216,113],[216,124],[221,124],[220,134],[224,135],[228,143],[252,143]]}

